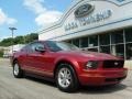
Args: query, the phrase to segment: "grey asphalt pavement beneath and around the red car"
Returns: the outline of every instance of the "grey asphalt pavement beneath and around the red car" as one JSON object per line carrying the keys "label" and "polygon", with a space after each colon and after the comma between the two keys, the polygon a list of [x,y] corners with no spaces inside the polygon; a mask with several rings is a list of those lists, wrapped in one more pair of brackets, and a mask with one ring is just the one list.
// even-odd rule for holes
{"label": "grey asphalt pavement beneath and around the red car", "polygon": [[14,78],[9,59],[0,59],[0,99],[132,99],[132,70],[120,85],[81,87],[75,94],[66,94],[50,81]]}

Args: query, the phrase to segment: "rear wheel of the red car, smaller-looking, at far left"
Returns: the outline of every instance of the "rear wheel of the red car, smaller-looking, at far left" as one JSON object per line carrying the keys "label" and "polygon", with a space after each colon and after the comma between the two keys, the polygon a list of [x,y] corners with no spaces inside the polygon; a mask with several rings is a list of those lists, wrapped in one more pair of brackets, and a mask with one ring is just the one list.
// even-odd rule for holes
{"label": "rear wheel of the red car, smaller-looking, at far left", "polygon": [[22,78],[23,77],[23,70],[21,69],[18,62],[14,62],[14,64],[13,64],[13,76],[15,78]]}

